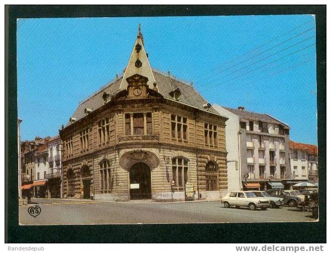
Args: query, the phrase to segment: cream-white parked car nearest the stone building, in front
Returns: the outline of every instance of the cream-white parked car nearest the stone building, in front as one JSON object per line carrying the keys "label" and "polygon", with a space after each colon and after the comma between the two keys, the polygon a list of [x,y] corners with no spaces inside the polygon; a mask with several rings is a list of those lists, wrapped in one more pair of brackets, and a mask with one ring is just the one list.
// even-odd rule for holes
{"label": "cream-white parked car nearest the stone building, in front", "polygon": [[257,197],[252,191],[231,191],[221,199],[225,208],[230,206],[247,207],[250,210],[266,210],[270,203],[265,197]]}

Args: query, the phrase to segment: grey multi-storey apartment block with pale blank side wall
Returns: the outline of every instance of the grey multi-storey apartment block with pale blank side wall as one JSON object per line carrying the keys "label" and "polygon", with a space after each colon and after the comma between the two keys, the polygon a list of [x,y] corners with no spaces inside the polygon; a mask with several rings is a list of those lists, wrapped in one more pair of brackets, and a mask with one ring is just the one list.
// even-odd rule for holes
{"label": "grey multi-storey apartment block with pale blank side wall", "polygon": [[289,187],[289,126],[267,114],[213,107],[228,118],[226,146],[229,190]]}

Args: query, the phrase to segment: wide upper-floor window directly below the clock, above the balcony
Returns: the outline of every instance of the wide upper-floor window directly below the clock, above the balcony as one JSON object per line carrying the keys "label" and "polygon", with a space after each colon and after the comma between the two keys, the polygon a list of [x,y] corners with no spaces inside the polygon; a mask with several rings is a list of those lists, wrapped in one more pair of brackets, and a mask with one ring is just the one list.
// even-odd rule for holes
{"label": "wide upper-floor window directly below the clock, above the balcony", "polygon": [[126,135],[151,135],[152,132],[152,113],[125,114]]}

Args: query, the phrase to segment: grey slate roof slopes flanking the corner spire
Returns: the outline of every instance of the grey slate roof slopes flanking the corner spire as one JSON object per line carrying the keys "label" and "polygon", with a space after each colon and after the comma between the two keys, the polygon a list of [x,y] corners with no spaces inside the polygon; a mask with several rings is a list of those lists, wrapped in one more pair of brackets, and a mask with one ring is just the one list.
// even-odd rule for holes
{"label": "grey slate roof slopes flanking the corner spire", "polygon": [[[208,103],[190,84],[187,84],[183,81],[179,81],[174,77],[169,77],[168,75],[162,74],[158,71],[153,70],[153,75],[155,77],[158,92],[164,97],[174,100],[169,94],[171,91],[179,88],[181,90],[182,95],[180,96],[180,103],[196,107],[198,109],[207,111],[203,109],[203,104]],[[115,80],[109,85],[105,86],[105,88],[93,94],[91,97],[86,99],[84,102],[80,103],[75,112],[71,117],[76,118],[76,120],[80,120],[85,117],[86,114],[84,110],[86,108],[92,109],[92,111],[100,108],[104,105],[104,101],[102,99],[103,92],[108,92],[111,94],[116,94],[120,91],[119,85],[121,83],[123,77]],[[153,88],[153,87],[149,87]],[[174,100],[176,102],[176,100]],[[217,115],[220,115],[213,107],[208,111]],[[66,124],[66,126],[70,125],[70,122]]]}

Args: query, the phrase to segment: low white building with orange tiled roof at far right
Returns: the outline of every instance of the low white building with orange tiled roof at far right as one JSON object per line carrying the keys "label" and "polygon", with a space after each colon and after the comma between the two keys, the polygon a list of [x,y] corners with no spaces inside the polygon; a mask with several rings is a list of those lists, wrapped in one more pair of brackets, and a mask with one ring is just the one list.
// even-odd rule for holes
{"label": "low white building with orange tiled roof at far right", "polygon": [[291,172],[297,181],[318,183],[318,148],[290,140]]}

